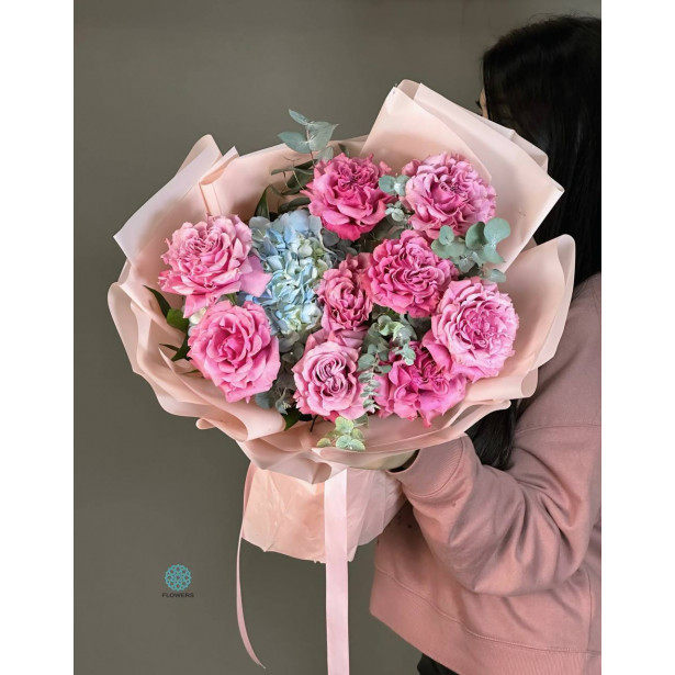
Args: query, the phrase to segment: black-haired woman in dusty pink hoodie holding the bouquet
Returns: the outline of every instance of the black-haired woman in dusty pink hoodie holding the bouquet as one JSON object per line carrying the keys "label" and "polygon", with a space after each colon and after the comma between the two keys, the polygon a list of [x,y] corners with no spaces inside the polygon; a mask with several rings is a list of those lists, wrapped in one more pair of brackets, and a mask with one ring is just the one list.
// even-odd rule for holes
{"label": "black-haired woman in dusty pink hoodie holding the bouquet", "polygon": [[576,288],[535,396],[395,470],[408,502],[380,537],[371,611],[426,654],[423,675],[597,674],[600,21],[514,31],[483,81],[483,114],[566,190],[536,239],[574,237]]}

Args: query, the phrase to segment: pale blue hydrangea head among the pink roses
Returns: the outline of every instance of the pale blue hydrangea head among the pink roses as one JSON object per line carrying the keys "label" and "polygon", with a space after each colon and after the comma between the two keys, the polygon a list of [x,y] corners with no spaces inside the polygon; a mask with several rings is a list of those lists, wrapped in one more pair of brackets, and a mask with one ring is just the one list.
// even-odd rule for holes
{"label": "pale blue hydrangea head among the pink roses", "polygon": [[337,255],[324,245],[320,218],[305,209],[271,222],[255,216],[249,227],[262,268],[272,275],[265,294],[254,300],[265,307],[284,353],[318,328],[322,311],[314,289]]}

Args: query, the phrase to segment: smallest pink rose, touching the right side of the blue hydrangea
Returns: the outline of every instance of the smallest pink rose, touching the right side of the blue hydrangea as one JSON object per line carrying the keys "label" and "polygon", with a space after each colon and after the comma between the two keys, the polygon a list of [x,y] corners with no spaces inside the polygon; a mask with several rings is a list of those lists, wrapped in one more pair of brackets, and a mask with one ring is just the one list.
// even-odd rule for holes
{"label": "smallest pink rose, touching the right side of the blue hydrangea", "polygon": [[324,305],[322,326],[326,330],[359,330],[368,322],[372,300],[361,280],[368,256],[348,256],[337,269],[324,272],[316,295]]}

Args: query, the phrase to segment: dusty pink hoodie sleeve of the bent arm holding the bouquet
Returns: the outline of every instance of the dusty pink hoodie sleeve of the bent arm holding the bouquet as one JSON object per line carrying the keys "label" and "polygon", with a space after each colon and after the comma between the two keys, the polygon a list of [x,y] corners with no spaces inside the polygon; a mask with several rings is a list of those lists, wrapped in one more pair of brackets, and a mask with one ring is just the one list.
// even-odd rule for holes
{"label": "dusty pink hoodie sleeve of the bent arm holding the bouquet", "polygon": [[511,468],[481,464],[469,437],[420,450],[393,473],[435,558],[475,593],[566,581],[600,510],[600,329],[594,289],[573,303],[516,429]]}

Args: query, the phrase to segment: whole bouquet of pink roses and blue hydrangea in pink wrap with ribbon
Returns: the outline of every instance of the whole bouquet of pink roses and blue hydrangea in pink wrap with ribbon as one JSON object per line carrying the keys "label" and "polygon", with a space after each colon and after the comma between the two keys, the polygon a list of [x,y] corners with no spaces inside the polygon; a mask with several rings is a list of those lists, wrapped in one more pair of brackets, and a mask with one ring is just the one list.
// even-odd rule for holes
{"label": "whole bouquet of pink roses and blue hydrangea in pink wrap with ribbon", "polygon": [[326,562],[347,673],[347,561],[403,502],[372,470],[533,393],[574,249],[531,240],[562,192],[545,156],[423,86],[394,88],[362,138],[290,114],[281,146],[196,144],[119,233],[110,305],[160,404],[251,459],[244,538]]}

